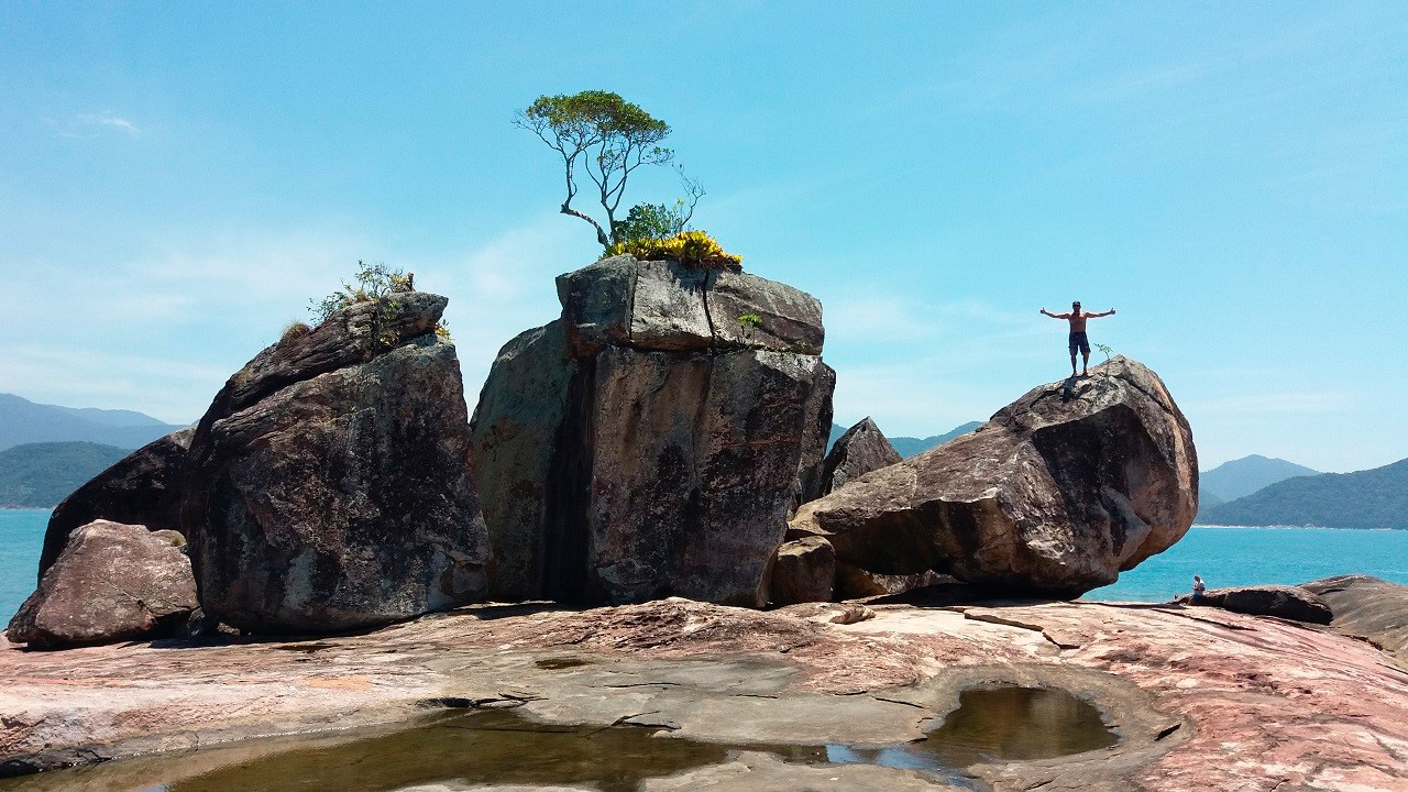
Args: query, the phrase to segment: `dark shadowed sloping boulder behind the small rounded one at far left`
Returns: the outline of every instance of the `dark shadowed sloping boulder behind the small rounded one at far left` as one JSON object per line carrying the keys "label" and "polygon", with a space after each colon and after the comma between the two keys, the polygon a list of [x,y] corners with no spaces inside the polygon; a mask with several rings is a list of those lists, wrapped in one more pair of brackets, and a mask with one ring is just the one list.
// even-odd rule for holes
{"label": "dark shadowed sloping boulder behind the small rounded one at far left", "polygon": [[179,530],[186,450],[194,433],[194,427],[183,428],[148,443],[55,506],[44,531],[39,578],[59,559],[69,534],[93,520],[146,526],[151,531]]}

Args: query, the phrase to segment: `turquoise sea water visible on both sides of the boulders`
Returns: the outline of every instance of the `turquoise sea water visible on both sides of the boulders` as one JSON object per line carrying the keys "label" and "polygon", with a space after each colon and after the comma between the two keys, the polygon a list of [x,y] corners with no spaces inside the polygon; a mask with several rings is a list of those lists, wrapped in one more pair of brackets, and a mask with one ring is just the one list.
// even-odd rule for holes
{"label": "turquoise sea water visible on both sides of the boulders", "polygon": [[[0,512],[0,619],[34,590],[48,510]],[[1087,599],[1163,602],[1198,574],[1209,588],[1363,574],[1408,583],[1408,531],[1194,526],[1183,541]]]}

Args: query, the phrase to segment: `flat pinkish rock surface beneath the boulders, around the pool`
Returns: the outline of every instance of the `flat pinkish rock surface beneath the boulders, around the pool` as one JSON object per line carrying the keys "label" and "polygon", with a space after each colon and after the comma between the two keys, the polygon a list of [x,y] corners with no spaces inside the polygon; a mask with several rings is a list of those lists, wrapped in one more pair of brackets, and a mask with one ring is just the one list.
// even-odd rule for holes
{"label": "flat pinkish rock surface beneath the boulders, around the pool", "polygon": [[[549,723],[650,713],[698,740],[894,744],[959,688],[1008,681],[1076,692],[1124,741],[970,769],[994,789],[1408,789],[1408,672],[1364,641],[1173,606],[872,610],[835,624],[686,600],[484,606],[307,643],[6,648],[0,760],[92,762],[494,700]],[[45,778],[25,781],[62,788]]]}

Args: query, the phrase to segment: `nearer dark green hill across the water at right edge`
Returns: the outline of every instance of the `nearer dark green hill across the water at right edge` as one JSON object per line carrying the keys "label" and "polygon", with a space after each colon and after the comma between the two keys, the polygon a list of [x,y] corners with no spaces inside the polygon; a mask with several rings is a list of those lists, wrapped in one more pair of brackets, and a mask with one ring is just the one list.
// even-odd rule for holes
{"label": "nearer dark green hill across the water at right edge", "polygon": [[1408,528],[1408,459],[1353,474],[1288,478],[1221,506],[1202,507],[1198,521]]}

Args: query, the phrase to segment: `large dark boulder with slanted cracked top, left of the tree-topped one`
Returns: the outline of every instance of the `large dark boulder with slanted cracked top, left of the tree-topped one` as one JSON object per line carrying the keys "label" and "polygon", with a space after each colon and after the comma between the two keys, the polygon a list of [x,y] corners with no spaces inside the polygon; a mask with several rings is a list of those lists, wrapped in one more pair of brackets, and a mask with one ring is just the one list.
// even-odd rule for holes
{"label": "large dark boulder with slanted cracked top, left of the tree-topped one", "polygon": [[483,598],[459,361],[435,333],[445,303],[353,304],[215,396],[182,509],[207,617],[322,633]]}

